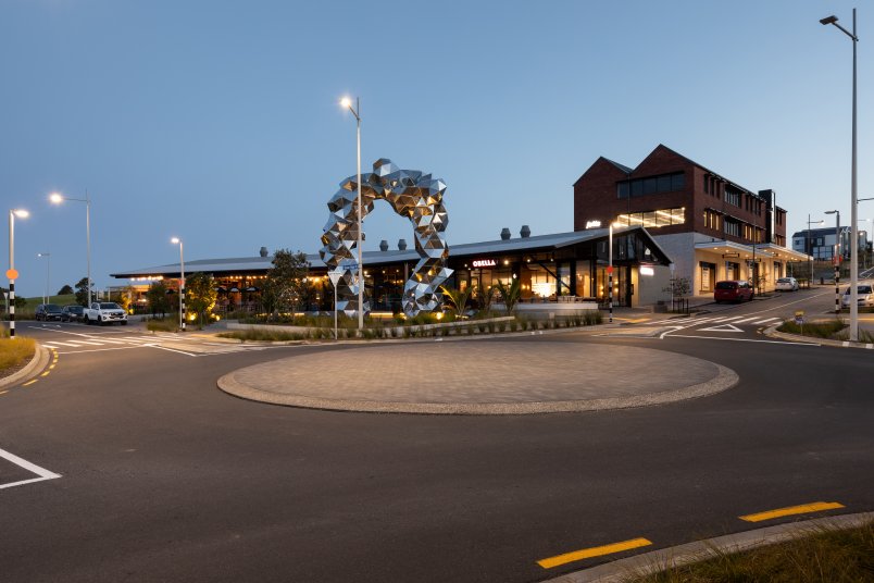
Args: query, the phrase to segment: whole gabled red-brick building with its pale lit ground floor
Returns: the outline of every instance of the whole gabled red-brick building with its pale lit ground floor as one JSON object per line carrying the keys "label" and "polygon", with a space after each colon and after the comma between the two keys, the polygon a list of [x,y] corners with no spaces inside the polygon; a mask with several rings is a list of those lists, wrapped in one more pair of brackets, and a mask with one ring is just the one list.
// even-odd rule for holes
{"label": "whole gabled red-brick building with its pale lit ground floor", "polygon": [[574,230],[640,225],[674,261],[692,295],[720,280],[773,289],[787,264],[807,256],[786,247],[786,211],[773,190],[748,190],[659,145],[636,168],[599,158],[574,183]]}

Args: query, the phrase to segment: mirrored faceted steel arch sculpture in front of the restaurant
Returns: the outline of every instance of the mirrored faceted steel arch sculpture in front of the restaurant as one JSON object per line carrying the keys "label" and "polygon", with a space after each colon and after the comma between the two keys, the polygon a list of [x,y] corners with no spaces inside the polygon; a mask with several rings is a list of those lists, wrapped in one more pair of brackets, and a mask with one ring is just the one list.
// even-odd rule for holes
{"label": "mirrored faceted steel arch sculpture in front of the restaurant", "polygon": [[[351,317],[358,313],[355,251],[358,245],[357,176],[340,183],[328,201],[330,218],[322,235],[319,251],[337,286],[337,309]],[[399,170],[391,160],[380,158],[373,172],[361,175],[362,221],[373,210],[375,200],[387,200],[395,212],[413,223],[415,250],[421,259],[403,286],[403,312],[414,317],[434,311],[442,303],[440,285],[452,274],[446,266],[449,248],[440,237],[449,224],[444,207],[446,184],[417,170]],[[363,309],[370,311],[365,300]]]}

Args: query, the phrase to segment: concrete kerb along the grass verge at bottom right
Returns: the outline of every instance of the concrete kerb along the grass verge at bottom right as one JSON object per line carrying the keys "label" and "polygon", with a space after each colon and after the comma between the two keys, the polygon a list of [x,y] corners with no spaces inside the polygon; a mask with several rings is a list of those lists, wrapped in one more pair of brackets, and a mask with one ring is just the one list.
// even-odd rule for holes
{"label": "concrete kerb along the grass verge at bottom right", "polygon": [[629,579],[700,562],[724,554],[742,553],[801,538],[822,529],[846,530],[861,526],[871,520],[874,520],[874,512],[841,514],[778,524],[636,555],[583,571],[567,573],[550,579],[545,583],[622,583]]}

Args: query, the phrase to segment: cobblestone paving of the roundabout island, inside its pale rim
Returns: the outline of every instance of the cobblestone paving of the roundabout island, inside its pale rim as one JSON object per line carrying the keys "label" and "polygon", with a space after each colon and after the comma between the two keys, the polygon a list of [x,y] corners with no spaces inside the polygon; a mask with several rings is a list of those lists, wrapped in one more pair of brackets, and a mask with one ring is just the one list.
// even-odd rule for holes
{"label": "cobblestone paving of the roundabout island, inside its pale rim", "polygon": [[319,399],[516,404],[623,398],[714,379],[719,367],[648,348],[554,342],[351,347],[234,373],[259,390]]}

